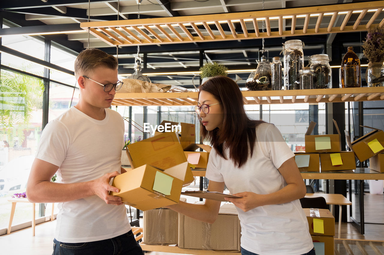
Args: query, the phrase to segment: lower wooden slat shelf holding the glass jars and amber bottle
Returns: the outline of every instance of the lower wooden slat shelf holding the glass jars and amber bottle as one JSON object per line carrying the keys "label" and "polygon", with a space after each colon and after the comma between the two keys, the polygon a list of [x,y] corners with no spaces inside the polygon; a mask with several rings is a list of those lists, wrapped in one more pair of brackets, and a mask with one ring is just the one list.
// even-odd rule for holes
{"label": "lower wooden slat shelf holding the glass jars and amber bottle", "polygon": [[[384,87],[243,91],[246,105],[384,100]],[[197,92],[116,93],[112,105],[194,106]]]}

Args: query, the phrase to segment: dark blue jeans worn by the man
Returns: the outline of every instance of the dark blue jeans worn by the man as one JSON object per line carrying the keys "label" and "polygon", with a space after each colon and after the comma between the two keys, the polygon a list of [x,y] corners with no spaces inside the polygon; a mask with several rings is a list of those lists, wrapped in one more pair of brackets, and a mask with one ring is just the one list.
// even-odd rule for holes
{"label": "dark blue jeans worn by the man", "polygon": [[111,239],[86,243],[62,243],[53,239],[52,255],[143,255],[132,230]]}

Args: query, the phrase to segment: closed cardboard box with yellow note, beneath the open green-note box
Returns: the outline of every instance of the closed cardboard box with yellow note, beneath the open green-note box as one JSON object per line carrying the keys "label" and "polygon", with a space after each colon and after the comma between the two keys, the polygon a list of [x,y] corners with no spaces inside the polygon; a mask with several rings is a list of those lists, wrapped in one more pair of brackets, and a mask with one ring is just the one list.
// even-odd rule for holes
{"label": "closed cardboard box with yellow note, beneath the open green-note box", "polygon": [[320,154],[321,172],[356,169],[353,151]]}

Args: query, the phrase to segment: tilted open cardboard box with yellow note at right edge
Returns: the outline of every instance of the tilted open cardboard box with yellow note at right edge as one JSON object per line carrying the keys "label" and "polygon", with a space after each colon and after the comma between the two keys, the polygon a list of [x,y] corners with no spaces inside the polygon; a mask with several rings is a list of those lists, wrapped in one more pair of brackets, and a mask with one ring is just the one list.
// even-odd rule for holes
{"label": "tilted open cardboard box with yellow note at right edge", "polygon": [[346,142],[349,148],[354,151],[360,162],[363,162],[364,160],[367,160],[370,157],[373,157],[374,155],[384,151],[384,132],[374,127],[362,127],[367,127],[374,130],[353,142],[351,142],[349,132],[346,130],[344,131]]}

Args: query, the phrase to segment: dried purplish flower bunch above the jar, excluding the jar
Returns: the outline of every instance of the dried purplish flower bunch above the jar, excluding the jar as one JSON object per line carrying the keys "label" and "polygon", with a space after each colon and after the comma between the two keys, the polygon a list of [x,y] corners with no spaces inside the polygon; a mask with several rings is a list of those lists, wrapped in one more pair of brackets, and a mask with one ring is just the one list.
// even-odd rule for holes
{"label": "dried purplish flower bunch above the jar, excluding the jar", "polygon": [[362,44],[364,56],[369,62],[384,62],[384,27],[368,28],[367,37]]}

